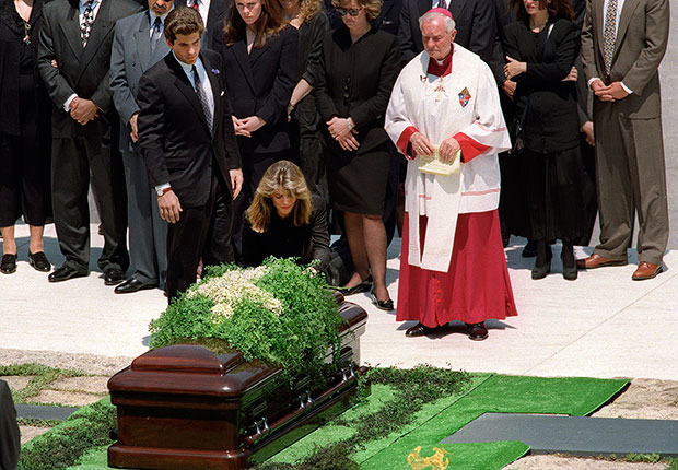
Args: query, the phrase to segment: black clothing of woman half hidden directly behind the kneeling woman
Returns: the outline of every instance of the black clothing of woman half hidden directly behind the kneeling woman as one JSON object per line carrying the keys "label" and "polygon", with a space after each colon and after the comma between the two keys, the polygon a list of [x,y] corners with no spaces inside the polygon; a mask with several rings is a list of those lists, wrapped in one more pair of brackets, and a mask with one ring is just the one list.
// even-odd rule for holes
{"label": "black clothing of woman half hidden directly behind the kneeling woman", "polygon": [[[304,79],[311,86],[315,86],[323,37],[328,31],[329,21],[324,11],[317,12],[300,26],[296,83]],[[290,160],[294,161],[302,169],[308,189],[328,200],[320,126],[320,115],[316,108],[313,94],[309,93],[296,104],[292,113],[290,120],[292,155]]]}

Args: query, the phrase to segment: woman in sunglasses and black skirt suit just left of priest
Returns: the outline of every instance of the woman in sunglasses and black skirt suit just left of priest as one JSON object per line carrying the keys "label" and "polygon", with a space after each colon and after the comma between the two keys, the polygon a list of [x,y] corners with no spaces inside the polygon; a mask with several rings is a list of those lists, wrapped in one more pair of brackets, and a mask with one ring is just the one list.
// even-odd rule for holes
{"label": "woman in sunglasses and black skirt suit just left of priest", "polygon": [[355,269],[343,287],[349,294],[372,290],[376,306],[390,310],[382,220],[390,168],[384,115],[400,71],[400,49],[394,35],[370,24],[379,15],[381,0],[334,4],[343,26],[323,39],[314,95],[325,122],[330,200],[343,211]]}

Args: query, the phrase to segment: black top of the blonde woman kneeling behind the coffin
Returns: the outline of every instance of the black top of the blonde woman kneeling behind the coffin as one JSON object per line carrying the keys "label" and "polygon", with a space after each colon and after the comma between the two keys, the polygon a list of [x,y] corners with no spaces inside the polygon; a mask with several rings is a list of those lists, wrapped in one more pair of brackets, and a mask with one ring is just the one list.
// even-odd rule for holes
{"label": "black top of the blonde woman kneeling behind the coffin", "polygon": [[259,266],[269,256],[277,258],[299,257],[300,265],[308,265],[317,259],[318,271],[329,266],[329,232],[325,200],[313,195],[313,212],[307,225],[295,227],[290,219],[271,216],[271,224],[265,233],[257,233],[249,226],[247,213],[244,215],[243,263]]}

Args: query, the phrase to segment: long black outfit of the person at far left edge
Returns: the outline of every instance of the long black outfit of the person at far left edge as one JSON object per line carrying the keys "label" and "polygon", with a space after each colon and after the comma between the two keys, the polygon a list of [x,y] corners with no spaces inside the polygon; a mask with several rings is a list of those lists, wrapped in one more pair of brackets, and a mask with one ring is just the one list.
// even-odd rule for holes
{"label": "long black outfit of the person at far left edge", "polygon": [[22,215],[40,226],[51,215],[50,105],[36,67],[42,20],[40,0],[27,23],[0,0],[0,227]]}

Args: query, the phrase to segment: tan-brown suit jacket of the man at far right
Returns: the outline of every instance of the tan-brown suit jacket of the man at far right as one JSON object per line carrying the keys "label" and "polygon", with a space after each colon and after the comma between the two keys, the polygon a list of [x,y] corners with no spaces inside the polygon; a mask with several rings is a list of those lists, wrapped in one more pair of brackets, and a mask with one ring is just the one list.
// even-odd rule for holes
{"label": "tan-brown suit jacket of the man at far right", "polygon": [[632,119],[657,118],[662,114],[658,68],[668,44],[669,2],[624,1],[609,78],[603,56],[603,3],[604,0],[586,1],[582,31],[586,81],[598,78],[604,83],[623,82],[633,93],[615,102],[617,110]]}

